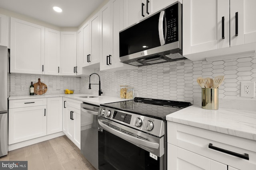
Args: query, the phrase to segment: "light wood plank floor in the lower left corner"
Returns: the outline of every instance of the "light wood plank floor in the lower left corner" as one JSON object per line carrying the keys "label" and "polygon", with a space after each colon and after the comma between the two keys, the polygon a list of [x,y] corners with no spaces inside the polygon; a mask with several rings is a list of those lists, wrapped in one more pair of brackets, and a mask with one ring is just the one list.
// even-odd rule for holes
{"label": "light wood plank floor in the lower left corner", "polygon": [[27,160],[28,170],[96,170],[65,135],[11,150],[5,160]]}

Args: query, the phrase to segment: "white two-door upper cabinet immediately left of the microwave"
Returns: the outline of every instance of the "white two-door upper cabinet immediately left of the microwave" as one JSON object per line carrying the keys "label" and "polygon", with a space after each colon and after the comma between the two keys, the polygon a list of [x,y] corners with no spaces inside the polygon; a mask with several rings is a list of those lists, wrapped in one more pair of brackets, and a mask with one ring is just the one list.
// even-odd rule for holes
{"label": "white two-door upper cabinet immediately left of the microwave", "polygon": [[119,31],[123,29],[123,0],[110,0],[100,10],[100,70],[135,69],[120,63]]}

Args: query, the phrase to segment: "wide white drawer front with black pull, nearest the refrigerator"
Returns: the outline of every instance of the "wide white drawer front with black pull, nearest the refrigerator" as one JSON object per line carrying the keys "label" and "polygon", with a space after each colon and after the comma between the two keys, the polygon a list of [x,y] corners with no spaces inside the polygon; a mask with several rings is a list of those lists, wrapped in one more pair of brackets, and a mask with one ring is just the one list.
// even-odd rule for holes
{"label": "wide white drawer front with black pull, nearest the refrigerator", "polygon": [[47,98],[37,98],[37,99],[22,99],[22,100],[10,100],[9,108],[18,107],[31,107],[31,106],[43,106],[47,105]]}

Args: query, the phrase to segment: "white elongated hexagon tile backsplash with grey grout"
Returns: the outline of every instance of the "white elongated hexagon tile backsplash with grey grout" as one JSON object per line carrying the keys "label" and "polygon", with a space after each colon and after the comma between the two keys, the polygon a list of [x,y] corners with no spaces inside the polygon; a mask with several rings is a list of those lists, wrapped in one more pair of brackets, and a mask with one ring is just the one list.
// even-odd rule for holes
{"label": "white elongated hexagon tile backsplash with grey grout", "polygon": [[[119,96],[120,85],[129,85],[134,87],[135,96],[193,102],[195,96],[201,96],[201,88],[196,82],[199,76],[214,78],[224,75],[219,97],[241,98],[240,82],[256,82],[256,57],[214,62],[186,59],[142,66],[135,70],[107,72],[96,69],[95,72],[100,75],[103,95]],[[92,85],[92,90],[88,90],[88,76],[78,78],[11,74],[11,95],[24,95],[21,85],[29,87],[30,81],[40,77],[52,94],[62,93],[63,88],[74,88],[75,93],[98,94],[98,85]],[[91,83],[98,83],[98,76],[92,76]]]}

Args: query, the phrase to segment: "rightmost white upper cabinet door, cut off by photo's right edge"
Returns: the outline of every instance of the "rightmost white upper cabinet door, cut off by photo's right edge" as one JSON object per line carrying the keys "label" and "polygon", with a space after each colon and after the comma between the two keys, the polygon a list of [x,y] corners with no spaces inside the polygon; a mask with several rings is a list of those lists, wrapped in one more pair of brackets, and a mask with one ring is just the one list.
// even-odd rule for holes
{"label": "rightmost white upper cabinet door, cut off by photo's right edge", "polygon": [[230,46],[256,42],[255,8],[255,0],[230,0]]}

